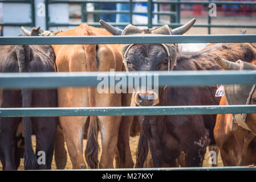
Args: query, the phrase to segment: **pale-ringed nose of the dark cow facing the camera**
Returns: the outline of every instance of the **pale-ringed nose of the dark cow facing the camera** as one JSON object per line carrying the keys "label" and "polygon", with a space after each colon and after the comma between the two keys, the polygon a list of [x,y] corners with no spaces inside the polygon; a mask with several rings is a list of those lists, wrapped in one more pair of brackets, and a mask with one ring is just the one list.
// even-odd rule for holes
{"label": "pale-ringed nose of the dark cow facing the camera", "polygon": [[159,104],[158,96],[155,92],[138,92],[135,94],[134,102],[139,106],[154,106]]}

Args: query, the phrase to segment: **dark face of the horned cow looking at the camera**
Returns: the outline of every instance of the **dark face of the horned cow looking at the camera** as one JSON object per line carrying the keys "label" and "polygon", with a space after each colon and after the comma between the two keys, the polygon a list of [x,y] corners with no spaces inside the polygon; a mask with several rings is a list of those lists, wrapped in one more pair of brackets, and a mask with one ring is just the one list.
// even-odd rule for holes
{"label": "dark face of the horned cow looking at the camera", "polygon": [[[160,44],[135,44],[125,56],[128,71],[170,71],[176,60],[176,47],[168,46],[168,51]],[[161,90],[147,87],[135,88],[134,102],[139,106],[154,106],[159,104]]]}

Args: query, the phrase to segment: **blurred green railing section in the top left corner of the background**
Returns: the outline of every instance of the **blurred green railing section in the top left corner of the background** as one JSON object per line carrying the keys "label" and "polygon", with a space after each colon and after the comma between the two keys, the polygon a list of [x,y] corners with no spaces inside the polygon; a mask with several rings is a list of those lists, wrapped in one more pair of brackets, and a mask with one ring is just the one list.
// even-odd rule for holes
{"label": "blurred green railing section in the top left corner of the background", "polygon": [[0,0],[0,3],[29,3],[31,5],[31,22],[27,23],[0,23],[0,26],[35,26],[35,4],[34,0]]}

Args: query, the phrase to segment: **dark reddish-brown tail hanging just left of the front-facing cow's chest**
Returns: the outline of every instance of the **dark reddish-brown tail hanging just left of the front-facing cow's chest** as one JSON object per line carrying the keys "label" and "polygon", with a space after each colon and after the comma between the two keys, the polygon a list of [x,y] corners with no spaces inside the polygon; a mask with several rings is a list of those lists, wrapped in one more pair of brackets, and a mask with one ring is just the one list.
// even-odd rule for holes
{"label": "dark reddish-brown tail hanging just left of the front-facing cow's chest", "polygon": [[143,168],[144,162],[148,156],[149,144],[146,135],[141,130],[139,144],[136,154],[136,168]]}

